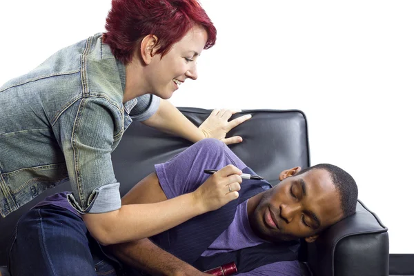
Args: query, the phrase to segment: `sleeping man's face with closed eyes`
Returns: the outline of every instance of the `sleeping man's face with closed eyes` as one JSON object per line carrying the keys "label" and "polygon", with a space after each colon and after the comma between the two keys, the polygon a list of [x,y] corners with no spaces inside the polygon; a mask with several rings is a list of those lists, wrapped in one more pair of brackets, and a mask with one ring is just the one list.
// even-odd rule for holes
{"label": "sleeping man's face with closed eyes", "polygon": [[268,241],[306,238],[313,242],[318,231],[342,217],[339,193],[327,170],[313,169],[286,177],[264,192],[249,217],[253,231]]}

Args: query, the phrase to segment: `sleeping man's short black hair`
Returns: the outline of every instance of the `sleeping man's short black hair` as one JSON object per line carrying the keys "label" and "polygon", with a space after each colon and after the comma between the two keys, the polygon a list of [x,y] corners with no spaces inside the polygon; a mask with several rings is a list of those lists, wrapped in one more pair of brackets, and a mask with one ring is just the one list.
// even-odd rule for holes
{"label": "sleeping man's short black hair", "polygon": [[322,169],[327,170],[331,175],[331,180],[339,193],[339,200],[341,201],[342,219],[355,214],[357,210],[358,188],[355,179],[337,166],[331,164],[317,164],[309,168],[305,168],[297,173],[302,175],[304,172],[310,170]]}

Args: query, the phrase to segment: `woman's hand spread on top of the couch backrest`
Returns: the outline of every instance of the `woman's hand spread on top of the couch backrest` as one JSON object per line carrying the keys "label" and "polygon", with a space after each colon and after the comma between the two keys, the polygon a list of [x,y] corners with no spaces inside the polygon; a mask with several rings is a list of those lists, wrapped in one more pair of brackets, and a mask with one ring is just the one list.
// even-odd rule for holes
{"label": "woman's hand spread on top of the couch backrest", "polygon": [[242,141],[242,137],[233,136],[226,138],[227,132],[235,126],[239,126],[239,124],[242,124],[244,121],[250,119],[252,115],[248,114],[238,117],[237,119],[233,119],[232,121],[228,121],[228,119],[230,119],[230,117],[235,113],[237,113],[237,111],[215,109],[211,112],[206,121],[199,126],[199,130],[203,132],[204,137],[219,139],[226,145],[240,143]]}

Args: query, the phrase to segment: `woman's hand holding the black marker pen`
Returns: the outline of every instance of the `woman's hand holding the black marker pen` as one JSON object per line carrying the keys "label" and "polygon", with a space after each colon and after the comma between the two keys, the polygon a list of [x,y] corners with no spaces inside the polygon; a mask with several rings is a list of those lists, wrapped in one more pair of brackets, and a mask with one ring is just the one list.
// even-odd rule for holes
{"label": "woman's hand holding the black marker pen", "polygon": [[239,197],[242,184],[242,170],[233,165],[217,170],[193,192],[195,202],[201,204],[201,210],[210,212]]}

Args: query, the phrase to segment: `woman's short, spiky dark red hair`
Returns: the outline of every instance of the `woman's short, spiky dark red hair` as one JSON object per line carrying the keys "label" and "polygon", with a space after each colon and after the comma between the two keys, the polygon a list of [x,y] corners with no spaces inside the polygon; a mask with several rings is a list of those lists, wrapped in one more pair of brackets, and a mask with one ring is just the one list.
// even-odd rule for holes
{"label": "woman's short, spiky dark red hair", "polygon": [[217,30],[197,0],[112,0],[103,39],[115,58],[126,64],[146,35],[158,37],[156,53],[164,56],[193,26],[206,30],[204,49],[211,48]]}

